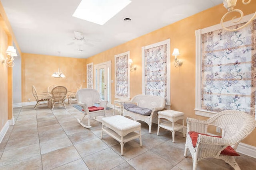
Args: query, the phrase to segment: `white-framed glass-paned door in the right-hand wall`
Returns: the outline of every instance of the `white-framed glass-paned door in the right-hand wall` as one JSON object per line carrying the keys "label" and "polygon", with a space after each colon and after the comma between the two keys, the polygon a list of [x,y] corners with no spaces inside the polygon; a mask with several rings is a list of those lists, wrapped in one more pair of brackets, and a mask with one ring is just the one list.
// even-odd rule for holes
{"label": "white-framed glass-paned door in the right-hand wall", "polygon": [[95,64],[95,89],[100,93],[101,100],[111,103],[111,61]]}

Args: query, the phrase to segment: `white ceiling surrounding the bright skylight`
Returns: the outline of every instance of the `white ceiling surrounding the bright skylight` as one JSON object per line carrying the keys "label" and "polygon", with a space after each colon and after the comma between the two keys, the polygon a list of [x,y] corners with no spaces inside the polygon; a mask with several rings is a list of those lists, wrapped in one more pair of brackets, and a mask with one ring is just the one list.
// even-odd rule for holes
{"label": "white ceiling surrounding the bright skylight", "polygon": [[[22,53],[58,56],[60,51],[60,56],[74,58],[91,57],[222,3],[222,0],[131,0],[116,16],[98,25],[72,17],[80,0],[0,1]],[[124,21],[127,17],[130,22]],[[73,31],[82,32],[88,42],[72,43]]]}

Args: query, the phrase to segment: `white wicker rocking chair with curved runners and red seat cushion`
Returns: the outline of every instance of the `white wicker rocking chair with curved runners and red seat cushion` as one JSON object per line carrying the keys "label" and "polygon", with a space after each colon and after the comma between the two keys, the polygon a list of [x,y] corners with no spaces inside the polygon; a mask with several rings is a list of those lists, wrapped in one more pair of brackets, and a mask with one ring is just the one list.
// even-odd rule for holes
{"label": "white wicker rocking chair with curved runners and red seat cushion", "polygon": [[[106,111],[106,101],[102,101],[100,99],[100,94],[97,92],[97,90],[94,90],[92,88],[84,88],[81,90],[78,90],[76,94],[77,103],[84,109],[84,116],[82,119],[77,119],[77,121],[80,123],[82,127],[90,128],[90,119],[96,119],[97,116],[104,116],[105,117],[105,111]],[[88,107],[92,107],[95,104],[98,104],[99,107],[104,107],[103,110],[97,110],[97,111],[89,111]],[[82,123],[84,117],[88,115],[88,125],[84,125]]]}

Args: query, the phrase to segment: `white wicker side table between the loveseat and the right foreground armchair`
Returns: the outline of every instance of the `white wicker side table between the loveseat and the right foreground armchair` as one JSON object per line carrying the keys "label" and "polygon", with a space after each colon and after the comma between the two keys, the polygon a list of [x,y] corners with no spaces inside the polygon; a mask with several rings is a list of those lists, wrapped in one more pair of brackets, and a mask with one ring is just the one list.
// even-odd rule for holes
{"label": "white wicker side table between the loveseat and the right foreground armchair", "polygon": [[[167,122],[160,123],[160,118],[167,119]],[[179,119],[182,119],[182,125],[175,123]],[[158,128],[157,135],[159,135],[159,128],[162,127],[172,132],[172,142],[175,143],[175,132],[182,129],[183,137],[185,137],[184,131],[184,113],[175,110],[158,111]]]}

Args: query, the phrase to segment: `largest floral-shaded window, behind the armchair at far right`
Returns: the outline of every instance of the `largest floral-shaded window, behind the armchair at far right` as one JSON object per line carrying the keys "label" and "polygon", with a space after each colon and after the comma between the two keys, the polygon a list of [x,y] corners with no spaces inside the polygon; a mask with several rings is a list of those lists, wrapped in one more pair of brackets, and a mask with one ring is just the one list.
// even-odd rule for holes
{"label": "largest floral-shaded window, behind the armchair at far right", "polygon": [[223,110],[255,115],[255,37],[256,20],[238,31],[220,25],[196,30],[196,115]]}

